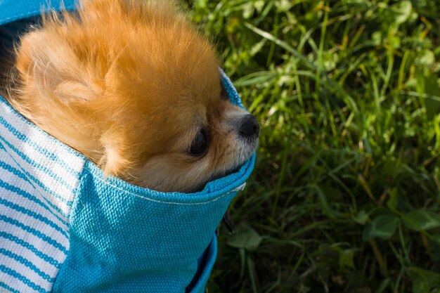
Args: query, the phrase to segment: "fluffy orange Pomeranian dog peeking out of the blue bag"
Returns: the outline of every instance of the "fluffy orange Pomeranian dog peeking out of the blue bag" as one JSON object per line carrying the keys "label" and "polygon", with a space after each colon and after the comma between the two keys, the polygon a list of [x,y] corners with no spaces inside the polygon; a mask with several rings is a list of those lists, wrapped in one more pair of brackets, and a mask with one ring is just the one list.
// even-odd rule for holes
{"label": "fluffy orange Pomeranian dog peeking out of the blue bag", "polygon": [[80,1],[24,34],[14,62],[8,102],[108,176],[189,193],[257,147],[257,119],[174,1]]}

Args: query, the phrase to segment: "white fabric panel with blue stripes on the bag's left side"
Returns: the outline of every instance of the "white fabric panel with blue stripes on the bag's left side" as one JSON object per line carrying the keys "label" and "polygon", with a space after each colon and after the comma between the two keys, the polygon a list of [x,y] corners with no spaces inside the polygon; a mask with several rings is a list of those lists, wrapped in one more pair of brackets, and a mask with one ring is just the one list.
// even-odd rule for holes
{"label": "white fabric panel with blue stripes on the bag's left side", "polygon": [[84,162],[0,100],[0,288],[51,291]]}

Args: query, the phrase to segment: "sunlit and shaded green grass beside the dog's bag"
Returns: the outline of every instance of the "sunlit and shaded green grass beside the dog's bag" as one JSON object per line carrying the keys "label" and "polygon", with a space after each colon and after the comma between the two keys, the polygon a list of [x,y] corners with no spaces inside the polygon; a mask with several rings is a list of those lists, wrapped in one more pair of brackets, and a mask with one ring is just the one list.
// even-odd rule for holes
{"label": "sunlit and shaded green grass beside the dog's bag", "polygon": [[188,3],[261,123],[208,292],[440,292],[440,1]]}

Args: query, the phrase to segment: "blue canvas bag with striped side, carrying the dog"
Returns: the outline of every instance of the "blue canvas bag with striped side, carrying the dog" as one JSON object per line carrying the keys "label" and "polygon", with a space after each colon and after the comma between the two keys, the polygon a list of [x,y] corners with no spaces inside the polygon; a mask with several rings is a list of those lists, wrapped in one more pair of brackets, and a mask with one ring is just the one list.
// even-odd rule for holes
{"label": "blue canvas bag with striped side, carrying the dog", "polygon": [[[39,15],[47,3],[0,0],[0,25]],[[0,97],[0,292],[205,292],[215,230],[254,159],[198,193],[160,193],[104,179]]]}

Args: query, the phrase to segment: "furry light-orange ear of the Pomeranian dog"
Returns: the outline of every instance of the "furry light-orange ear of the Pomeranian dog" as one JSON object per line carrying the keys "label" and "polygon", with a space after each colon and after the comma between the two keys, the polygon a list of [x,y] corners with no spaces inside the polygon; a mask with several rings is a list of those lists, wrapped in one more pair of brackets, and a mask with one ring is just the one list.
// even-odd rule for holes
{"label": "furry light-orange ear of the Pomeranian dog", "polygon": [[51,30],[26,34],[16,49],[16,68],[25,88],[62,103],[82,103],[96,96],[96,86],[80,72],[67,42]]}

